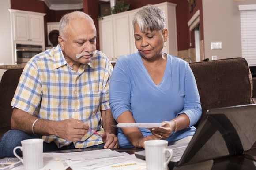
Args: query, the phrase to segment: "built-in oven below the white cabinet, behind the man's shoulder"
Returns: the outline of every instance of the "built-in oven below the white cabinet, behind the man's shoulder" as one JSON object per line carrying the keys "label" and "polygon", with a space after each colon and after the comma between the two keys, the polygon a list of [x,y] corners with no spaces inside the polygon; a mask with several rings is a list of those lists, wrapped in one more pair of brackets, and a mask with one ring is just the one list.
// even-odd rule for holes
{"label": "built-in oven below the white cabinet, behind the man's shoulder", "polygon": [[16,44],[16,64],[27,63],[30,58],[42,51],[41,45]]}

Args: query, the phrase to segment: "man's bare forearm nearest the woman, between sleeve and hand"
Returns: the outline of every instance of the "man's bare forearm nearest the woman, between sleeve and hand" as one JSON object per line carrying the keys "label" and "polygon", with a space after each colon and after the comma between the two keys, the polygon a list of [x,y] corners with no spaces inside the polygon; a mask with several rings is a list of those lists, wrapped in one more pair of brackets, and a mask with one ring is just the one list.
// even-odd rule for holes
{"label": "man's bare forearm nearest the woman, between sleeve and hand", "polygon": [[102,126],[105,132],[117,134],[117,128],[111,127],[111,125],[116,125],[117,122],[112,116],[110,109],[102,110]]}

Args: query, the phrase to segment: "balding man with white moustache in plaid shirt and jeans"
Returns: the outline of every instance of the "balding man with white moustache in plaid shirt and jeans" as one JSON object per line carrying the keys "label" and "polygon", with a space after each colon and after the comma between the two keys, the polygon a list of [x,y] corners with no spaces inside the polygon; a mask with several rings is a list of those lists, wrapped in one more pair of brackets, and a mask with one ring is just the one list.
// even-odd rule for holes
{"label": "balding man with white moustache in plaid shirt and jeans", "polygon": [[11,102],[13,130],[0,141],[0,157],[13,155],[22,140],[41,137],[44,151],[118,147],[110,127],[113,67],[96,50],[92,18],[80,11],[64,15],[58,41],[26,64]]}

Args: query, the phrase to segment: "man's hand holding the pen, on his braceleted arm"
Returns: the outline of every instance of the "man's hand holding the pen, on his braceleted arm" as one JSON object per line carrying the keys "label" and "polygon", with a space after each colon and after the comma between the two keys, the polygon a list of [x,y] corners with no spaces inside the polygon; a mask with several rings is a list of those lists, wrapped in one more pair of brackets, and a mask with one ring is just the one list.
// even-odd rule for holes
{"label": "man's hand holding the pen, on his braceleted arm", "polygon": [[88,129],[88,124],[81,120],[66,119],[56,122],[55,135],[68,141],[79,141]]}

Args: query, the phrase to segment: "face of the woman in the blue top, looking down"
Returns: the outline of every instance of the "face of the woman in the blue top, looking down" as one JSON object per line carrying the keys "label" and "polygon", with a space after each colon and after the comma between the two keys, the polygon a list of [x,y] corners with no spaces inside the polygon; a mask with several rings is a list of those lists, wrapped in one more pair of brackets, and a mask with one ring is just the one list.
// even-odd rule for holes
{"label": "face of the woman in the blue top, looking down", "polygon": [[145,59],[154,59],[162,57],[162,49],[164,41],[167,40],[168,31],[147,31],[142,33],[139,29],[139,25],[134,25],[134,39],[135,46],[138,49],[140,55]]}

